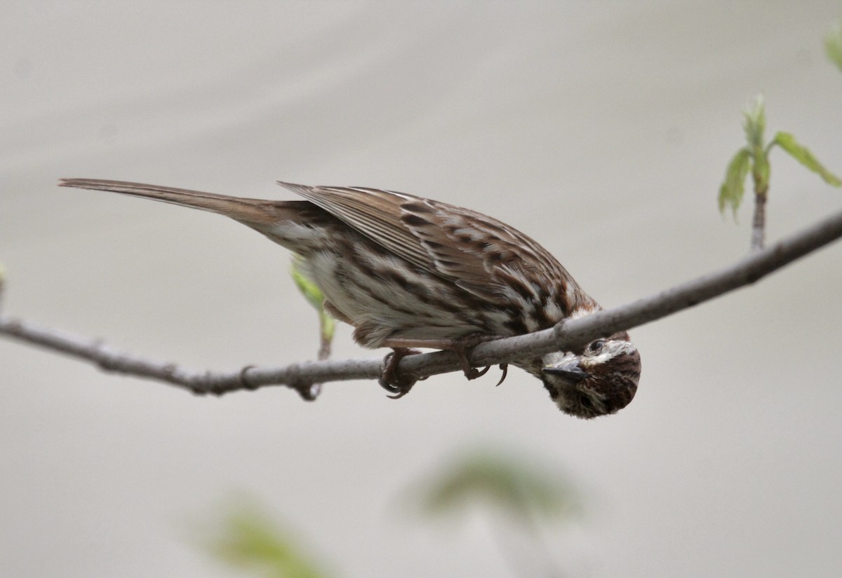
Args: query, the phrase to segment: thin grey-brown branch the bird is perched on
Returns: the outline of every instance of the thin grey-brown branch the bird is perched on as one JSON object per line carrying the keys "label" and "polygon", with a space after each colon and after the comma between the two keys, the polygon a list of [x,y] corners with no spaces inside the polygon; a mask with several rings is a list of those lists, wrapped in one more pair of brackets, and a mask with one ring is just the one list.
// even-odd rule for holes
{"label": "thin grey-brown branch the bird is perched on", "polygon": [[[631,329],[693,307],[738,287],[750,285],[839,237],[842,237],[842,213],[825,218],[765,250],[756,250],[745,259],[721,271],[674,286],[651,297],[644,297],[636,302],[584,318],[567,319],[554,328],[534,334],[479,344],[472,350],[470,359],[473,365],[480,367],[495,365],[525,356],[567,349],[602,335]],[[257,389],[269,385],[300,388],[326,381],[376,379],[381,376],[382,370],[382,360],[378,358],[306,361],[285,367],[246,366],[240,370],[218,372],[194,371],[172,363],[131,355],[113,349],[99,340],[84,339],[5,316],[0,316],[0,334],[89,360],[106,371],[166,381],[198,394],[221,395],[229,391]],[[447,351],[410,355],[402,359],[399,365],[400,371],[419,377],[459,369],[456,355]]]}

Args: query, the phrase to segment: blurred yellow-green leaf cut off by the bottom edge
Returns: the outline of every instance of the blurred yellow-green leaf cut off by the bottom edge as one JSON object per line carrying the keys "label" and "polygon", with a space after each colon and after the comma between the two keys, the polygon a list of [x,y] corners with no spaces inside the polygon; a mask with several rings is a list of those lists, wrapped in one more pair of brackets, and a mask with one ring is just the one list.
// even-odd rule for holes
{"label": "blurred yellow-green leaf cut off by the bottom edge", "polygon": [[232,507],[205,548],[217,559],[267,578],[324,578],[312,561],[269,522],[257,507]]}

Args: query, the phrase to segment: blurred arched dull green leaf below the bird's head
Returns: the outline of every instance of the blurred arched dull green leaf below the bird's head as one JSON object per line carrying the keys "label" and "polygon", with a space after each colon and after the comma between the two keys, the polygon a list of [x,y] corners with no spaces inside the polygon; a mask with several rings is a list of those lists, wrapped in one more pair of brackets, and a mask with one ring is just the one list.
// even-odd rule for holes
{"label": "blurred arched dull green leaf below the bird's head", "polygon": [[567,481],[488,453],[463,456],[427,486],[422,505],[435,514],[477,501],[519,518],[540,514],[563,519],[579,511],[578,497]]}

